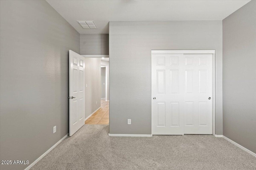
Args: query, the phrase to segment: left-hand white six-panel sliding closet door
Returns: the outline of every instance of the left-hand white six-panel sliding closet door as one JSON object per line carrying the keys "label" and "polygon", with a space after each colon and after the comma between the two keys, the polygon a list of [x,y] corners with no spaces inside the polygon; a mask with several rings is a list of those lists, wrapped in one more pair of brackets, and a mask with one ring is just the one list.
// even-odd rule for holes
{"label": "left-hand white six-panel sliding closet door", "polygon": [[184,134],[183,54],[152,54],[152,134]]}

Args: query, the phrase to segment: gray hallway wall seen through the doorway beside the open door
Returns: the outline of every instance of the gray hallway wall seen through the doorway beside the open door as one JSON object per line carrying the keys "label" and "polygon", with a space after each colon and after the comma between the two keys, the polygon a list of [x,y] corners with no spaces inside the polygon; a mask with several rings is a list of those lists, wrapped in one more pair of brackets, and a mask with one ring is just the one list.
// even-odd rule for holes
{"label": "gray hallway wall seen through the doorway beside the open door", "polygon": [[85,88],[85,118],[100,107],[100,82],[100,59],[86,58],[85,84],[87,84],[87,88]]}

